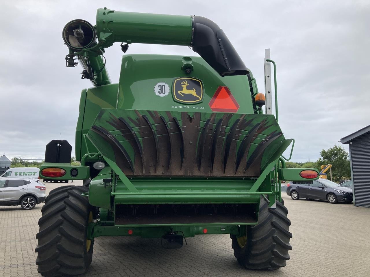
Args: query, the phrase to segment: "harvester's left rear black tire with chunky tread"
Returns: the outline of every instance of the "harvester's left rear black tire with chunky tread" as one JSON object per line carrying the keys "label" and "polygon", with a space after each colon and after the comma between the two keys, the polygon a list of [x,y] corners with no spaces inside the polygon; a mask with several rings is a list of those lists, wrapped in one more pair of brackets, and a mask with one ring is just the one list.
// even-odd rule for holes
{"label": "harvester's left rear black tire with chunky tread", "polygon": [[42,276],[83,274],[91,264],[94,240],[88,247],[87,226],[96,209],[83,192],[88,188],[69,185],[53,189],[46,198],[36,235],[37,271]]}

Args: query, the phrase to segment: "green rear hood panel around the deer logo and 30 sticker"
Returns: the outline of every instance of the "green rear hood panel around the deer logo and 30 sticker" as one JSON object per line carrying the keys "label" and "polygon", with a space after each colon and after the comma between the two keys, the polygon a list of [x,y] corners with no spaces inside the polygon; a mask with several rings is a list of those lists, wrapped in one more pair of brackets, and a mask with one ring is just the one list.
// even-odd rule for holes
{"label": "green rear hood panel around the deer logo and 30 sticker", "polygon": [[[118,109],[158,110],[178,112],[212,112],[209,102],[219,86],[227,86],[239,104],[237,113],[253,114],[249,81],[246,75],[221,77],[200,57],[188,57],[194,71],[182,70],[182,56],[174,55],[124,55],[122,58],[118,89]],[[203,82],[204,98],[201,103],[180,104],[172,97],[175,78],[197,78]],[[154,89],[158,83],[166,83],[171,93],[158,96]],[[191,88],[190,88],[191,89]]]}

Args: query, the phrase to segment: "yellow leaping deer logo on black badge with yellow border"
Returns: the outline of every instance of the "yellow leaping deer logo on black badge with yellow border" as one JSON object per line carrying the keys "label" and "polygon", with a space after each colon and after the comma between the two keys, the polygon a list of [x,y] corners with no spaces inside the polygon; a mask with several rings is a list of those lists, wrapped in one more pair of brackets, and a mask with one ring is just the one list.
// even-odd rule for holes
{"label": "yellow leaping deer logo on black badge with yellow border", "polygon": [[203,101],[203,84],[196,78],[181,77],[174,80],[172,95],[179,103],[196,104]]}

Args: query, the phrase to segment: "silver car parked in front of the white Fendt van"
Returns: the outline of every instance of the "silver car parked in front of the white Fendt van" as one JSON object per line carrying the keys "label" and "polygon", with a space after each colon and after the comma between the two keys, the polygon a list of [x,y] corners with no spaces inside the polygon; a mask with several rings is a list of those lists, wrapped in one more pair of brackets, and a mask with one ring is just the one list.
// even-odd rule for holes
{"label": "silver car parked in front of the white Fendt van", "polygon": [[46,199],[46,187],[31,178],[1,178],[0,206],[21,205],[22,209],[33,209]]}

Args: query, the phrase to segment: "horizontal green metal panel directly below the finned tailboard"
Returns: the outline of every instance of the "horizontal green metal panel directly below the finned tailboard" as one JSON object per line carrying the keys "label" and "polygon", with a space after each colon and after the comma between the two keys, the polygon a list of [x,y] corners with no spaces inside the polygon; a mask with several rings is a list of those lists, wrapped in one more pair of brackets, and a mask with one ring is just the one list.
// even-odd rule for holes
{"label": "horizontal green metal panel directly below the finned tailboard", "polygon": [[114,204],[258,203],[259,193],[250,194],[254,181],[230,179],[137,179],[130,192],[123,182],[115,187]]}

